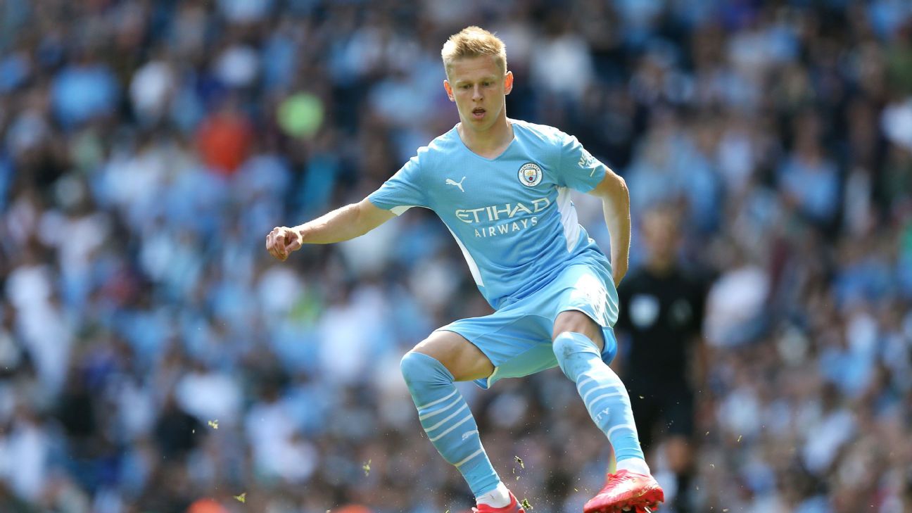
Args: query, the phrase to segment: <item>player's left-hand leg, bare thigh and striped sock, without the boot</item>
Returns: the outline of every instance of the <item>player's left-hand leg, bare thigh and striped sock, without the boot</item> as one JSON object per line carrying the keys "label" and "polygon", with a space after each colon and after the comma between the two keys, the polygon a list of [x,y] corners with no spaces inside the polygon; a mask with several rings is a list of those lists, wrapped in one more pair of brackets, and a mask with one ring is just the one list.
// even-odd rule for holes
{"label": "player's left-hand leg, bare thigh and striped sock, without the boot", "polygon": [[482,447],[478,424],[453,382],[491,375],[491,361],[461,335],[435,331],[402,357],[402,376],[430,442],[459,469],[479,504],[511,503],[506,487]]}

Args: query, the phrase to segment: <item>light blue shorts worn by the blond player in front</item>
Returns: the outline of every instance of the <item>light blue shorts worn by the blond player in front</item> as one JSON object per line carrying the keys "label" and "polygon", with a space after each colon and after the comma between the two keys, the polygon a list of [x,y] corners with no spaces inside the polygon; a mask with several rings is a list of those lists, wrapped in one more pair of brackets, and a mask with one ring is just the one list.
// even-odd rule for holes
{"label": "light blue shorts worn by the blond player in front", "polygon": [[587,265],[572,265],[533,295],[484,317],[460,319],[439,330],[459,333],[494,365],[491,376],[475,380],[483,389],[503,378],[519,378],[557,366],[552,350],[554,320],[566,310],[578,310],[603,330],[602,360],[617,354],[611,326],[617,320],[617,291],[606,272]]}

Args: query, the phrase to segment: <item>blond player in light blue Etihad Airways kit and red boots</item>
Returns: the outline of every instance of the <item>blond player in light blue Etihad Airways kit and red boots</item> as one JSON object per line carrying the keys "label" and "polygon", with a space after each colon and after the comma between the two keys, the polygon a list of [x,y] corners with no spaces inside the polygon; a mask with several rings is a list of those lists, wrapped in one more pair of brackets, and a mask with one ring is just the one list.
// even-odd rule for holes
{"label": "blond player in light blue Etihad Airways kit and red boots", "polygon": [[[617,458],[617,472],[586,503],[586,513],[656,508],[662,489],[640,449],[627,389],[607,365],[617,352],[611,326],[630,245],[627,185],[574,137],[506,117],[513,73],[503,42],[490,32],[463,29],[441,57],[443,87],[460,122],[358,204],[275,227],[266,249],[285,260],[303,244],[344,241],[411,207],[430,208],[496,311],[435,330],[405,354],[401,370],[430,442],[472,489],[473,510],[523,512],[494,472],[453,382],[487,389],[554,366],[575,382]],[[571,189],[603,200],[610,261],[578,224]]]}

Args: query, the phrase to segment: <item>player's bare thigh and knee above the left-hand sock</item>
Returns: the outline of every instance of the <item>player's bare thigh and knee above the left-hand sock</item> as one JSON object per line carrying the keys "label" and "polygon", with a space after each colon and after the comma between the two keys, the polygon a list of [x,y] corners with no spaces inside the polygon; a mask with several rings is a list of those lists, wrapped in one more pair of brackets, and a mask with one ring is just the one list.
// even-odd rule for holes
{"label": "player's bare thigh and knee above the left-hand sock", "polygon": [[481,380],[494,372],[493,364],[482,350],[453,331],[434,331],[411,351],[440,361],[457,382]]}

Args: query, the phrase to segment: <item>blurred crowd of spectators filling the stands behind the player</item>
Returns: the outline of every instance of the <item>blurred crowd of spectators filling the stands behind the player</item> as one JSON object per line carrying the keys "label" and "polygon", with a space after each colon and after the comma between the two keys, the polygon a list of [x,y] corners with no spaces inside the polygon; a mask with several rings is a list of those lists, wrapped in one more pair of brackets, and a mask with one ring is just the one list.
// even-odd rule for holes
{"label": "blurred crowd of spectators filling the stands behind the player", "polygon": [[[0,510],[472,505],[399,376],[490,311],[436,217],[264,251],[458,121],[440,47],[471,24],[509,116],[626,178],[632,267],[678,209],[709,290],[697,510],[912,511],[906,0],[0,3]],[[516,495],[580,511],[609,452],[563,374],[461,390]]]}

